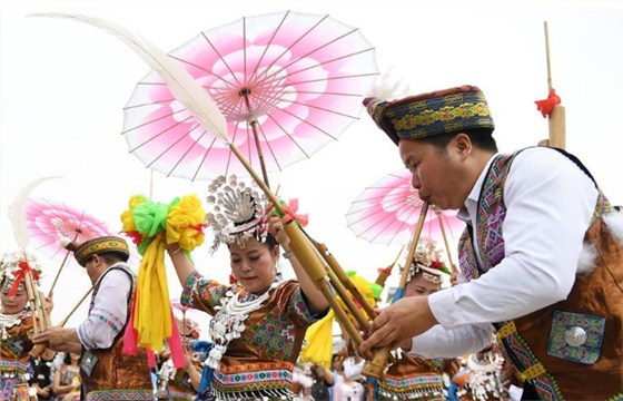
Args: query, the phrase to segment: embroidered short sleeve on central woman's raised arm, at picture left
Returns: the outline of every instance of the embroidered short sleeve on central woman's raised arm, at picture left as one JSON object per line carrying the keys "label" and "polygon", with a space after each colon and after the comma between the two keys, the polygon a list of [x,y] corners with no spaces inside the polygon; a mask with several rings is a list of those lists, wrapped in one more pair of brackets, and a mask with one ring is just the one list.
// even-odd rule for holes
{"label": "embroidered short sleeve on central woman's raised arm, at picture left", "polygon": [[220,305],[220,299],[227,290],[229,290],[228,285],[207,280],[199,272],[194,271],[184,285],[180,303],[214,315],[216,313],[214,307]]}

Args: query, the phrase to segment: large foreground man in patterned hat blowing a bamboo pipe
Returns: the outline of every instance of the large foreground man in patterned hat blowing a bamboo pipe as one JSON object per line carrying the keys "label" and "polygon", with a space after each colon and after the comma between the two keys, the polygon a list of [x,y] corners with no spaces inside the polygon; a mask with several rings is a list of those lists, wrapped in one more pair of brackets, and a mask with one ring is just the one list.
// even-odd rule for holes
{"label": "large foreground man in patterned hat blowing a bamboo pipe", "polygon": [[581,162],[546,147],[498,154],[474,86],[365,104],[419,197],[467,227],[463,282],[389,305],[362,351],[413,338],[411,353],[452,358],[495,327],[525,399],[623,397],[623,224]]}

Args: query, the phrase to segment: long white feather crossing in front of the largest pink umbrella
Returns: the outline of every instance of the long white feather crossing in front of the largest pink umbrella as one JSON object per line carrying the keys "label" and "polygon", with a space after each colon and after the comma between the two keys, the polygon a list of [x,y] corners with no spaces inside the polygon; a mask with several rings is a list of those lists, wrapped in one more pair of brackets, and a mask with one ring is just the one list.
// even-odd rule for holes
{"label": "long white feather crossing in front of the largest pink umbrella", "polygon": [[121,39],[126,45],[132,48],[149,67],[160,75],[160,78],[167,84],[175,98],[199,120],[204,128],[209,133],[217,134],[226,144],[229,144],[225,116],[220,113],[212,98],[197,81],[195,81],[190,74],[188,74],[177,60],[170,58],[149,40],[121,26],[88,16],[59,12],[34,13],[30,16],[63,18],[85,22]]}

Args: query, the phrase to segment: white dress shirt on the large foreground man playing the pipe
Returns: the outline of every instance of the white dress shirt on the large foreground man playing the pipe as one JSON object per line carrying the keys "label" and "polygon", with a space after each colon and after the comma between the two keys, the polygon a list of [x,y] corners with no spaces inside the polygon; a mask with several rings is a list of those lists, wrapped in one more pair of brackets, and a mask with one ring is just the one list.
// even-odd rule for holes
{"label": "white dress shirt on the large foreground man playing the pipe", "polygon": [[[459,212],[473,227],[492,160]],[[439,324],[414,338],[411,353],[452,358],[479,351],[492,340],[491,323],[566,299],[596,200],[593,182],[565,156],[542,147],[520,153],[504,185],[504,260],[477,280],[432,294],[428,304]],[[475,235],[473,241],[477,252]]]}

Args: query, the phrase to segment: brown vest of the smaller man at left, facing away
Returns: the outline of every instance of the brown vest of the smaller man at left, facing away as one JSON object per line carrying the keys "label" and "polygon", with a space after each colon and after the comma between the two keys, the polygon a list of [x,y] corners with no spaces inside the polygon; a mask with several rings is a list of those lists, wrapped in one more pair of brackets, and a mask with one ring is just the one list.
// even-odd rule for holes
{"label": "brown vest of the smaller man at left, facing away", "polygon": [[[130,290],[130,296],[127,300],[128,302],[128,310],[127,310],[127,321],[129,320],[131,305],[134,301],[134,292],[135,292],[135,280],[131,271],[123,266],[117,265],[103,274],[110,273],[112,270],[121,270],[129,275],[129,278],[132,282],[132,286]],[[101,283],[101,280],[99,281]],[[99,283],[93,288],[93,296],[95,300],[97,296],[97,292],[99,290]],[[92,309],[92,304],[89,307],[89,312]],[[122,397],[136,397],[136,398],[121,398],[121,395],[117,394],[113,398],[108,399],[118,399],[118,400],[142,400],[140,398],[142,395],[152,397],[151,395],[151,379],[149,373],[149,365],[147,363],[147,353],[145,349],[139,348],[137,355],[127,355],[123,354],[123,332],[125,326],[119,331],[119,334],[112,341],[112,345],[106,350],[93,350],[93,351],[86,351],[82,350],[82,360],[81,360],[81,372],[80,375],[82,378],[82,391],[86,394],[96,393],[99,395],[106,394],[109,397],[108,391],[110,390],[121,390],[118,393],[123,393]],[[88,361],[86,361],[88,360]],[[85,365],[90,365],[90,372],[87,373],[85,371]],[[123,391],[130,390],[130,391]],[[136,391],[136,390],[147,390],[147,391]],[[127,394],[126,394],[127,393]],[[87,399],[97,399],[98,397],[88,397]]]}

